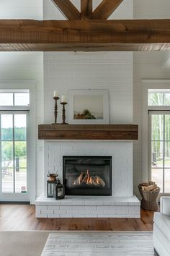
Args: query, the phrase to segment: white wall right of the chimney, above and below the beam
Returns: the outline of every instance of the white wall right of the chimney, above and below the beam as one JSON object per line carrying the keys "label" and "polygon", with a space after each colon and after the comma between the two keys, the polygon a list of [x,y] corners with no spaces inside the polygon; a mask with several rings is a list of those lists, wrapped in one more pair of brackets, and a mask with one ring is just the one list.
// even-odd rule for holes
{"label": "white wall right of the chimney, above and below the beam", "polygon": [[[135,19],[166,19],[170,16],[169,0],[135,0]],[[164,69],[165,62],[169,59],[169,52],[138,52],[134,53],[133,72],[133,123],[139,124],[139,140],[134,142],[133,148],[133,179],[134,191],[138,195],[138,184],[143,180],[143,152],[142,152],[142,108],[143,108],[143,83],[142,79],[168,79],[169,69]]]}

